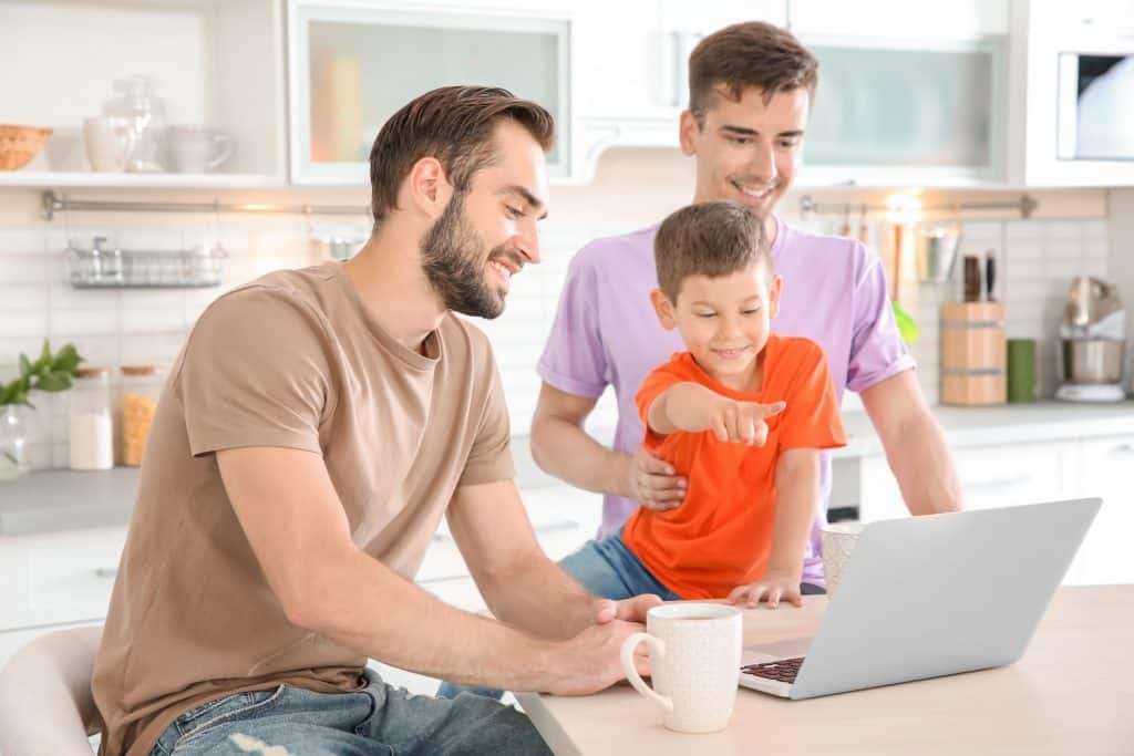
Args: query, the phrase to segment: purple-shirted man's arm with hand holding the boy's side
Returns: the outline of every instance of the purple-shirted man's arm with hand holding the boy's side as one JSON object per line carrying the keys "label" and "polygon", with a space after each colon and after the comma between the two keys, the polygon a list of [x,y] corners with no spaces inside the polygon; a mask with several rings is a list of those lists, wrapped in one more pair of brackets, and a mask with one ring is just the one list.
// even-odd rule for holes
{"label": "purple-shirted man's arm with hand holding the boy's side", "polygon": [[576,487],[626,496],[649,509],[682,503],[685,478],[667,462],[641,448],[633,455],[612,451],[587,434],[583,423],[595,404],[544,382],[532,418],[535,464]]}

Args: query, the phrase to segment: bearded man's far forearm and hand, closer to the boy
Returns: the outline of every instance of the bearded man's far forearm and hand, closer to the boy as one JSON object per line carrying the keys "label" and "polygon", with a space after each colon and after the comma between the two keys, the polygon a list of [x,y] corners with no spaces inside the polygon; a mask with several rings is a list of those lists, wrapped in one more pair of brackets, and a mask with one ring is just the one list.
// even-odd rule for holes
{"label": "bearded man's far forearm and hand, closer to the boy", "polygon": [[600,598],[540,549],[513,481],[457,489],[449,530],[492,614],[532,635],[564,639],[595,621],[642,622],[657,596]]}

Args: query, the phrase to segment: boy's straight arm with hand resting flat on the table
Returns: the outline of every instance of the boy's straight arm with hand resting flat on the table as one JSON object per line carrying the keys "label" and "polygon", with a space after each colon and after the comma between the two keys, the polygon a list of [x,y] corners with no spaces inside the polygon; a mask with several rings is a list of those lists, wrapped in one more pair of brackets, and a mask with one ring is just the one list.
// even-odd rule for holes
{"label": "boy's straight arm with hand resting flat on the table", "polygon": [[734,604],[755,606],[768,602],[776,609],[780,600],[803,605],[799,580],[803,552],[811,533],[811,518],[819,501],[819,450],[788,449],[776,465],[776,517],[772,525],[772,553],[768,570],[751,585],[729,594]]}

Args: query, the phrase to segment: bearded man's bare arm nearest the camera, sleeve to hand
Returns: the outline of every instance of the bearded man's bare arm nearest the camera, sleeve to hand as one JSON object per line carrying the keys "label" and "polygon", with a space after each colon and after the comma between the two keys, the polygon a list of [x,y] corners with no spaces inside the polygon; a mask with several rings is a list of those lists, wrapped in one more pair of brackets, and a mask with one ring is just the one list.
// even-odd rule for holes
{"label": "bearded man's bare arm nearest the camera, sleeve to hand", "polygon": [[533,638],[448,606],[359,551],[318,455],[243,448],[217,452],[217,462],[294,625],[395,666],[469,685],[581,694],[623,677],[619,647],[638,625],[593,625],[560,643]]}

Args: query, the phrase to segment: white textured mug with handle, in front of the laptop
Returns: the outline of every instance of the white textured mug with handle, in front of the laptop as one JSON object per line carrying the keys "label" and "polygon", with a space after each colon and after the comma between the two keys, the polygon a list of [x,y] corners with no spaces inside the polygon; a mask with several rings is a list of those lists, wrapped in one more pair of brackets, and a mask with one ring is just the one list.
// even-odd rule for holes
{"label": "white textured mug with handle, in front of the laptop", "polygon": [[[671,603],[646,612],[645,632],[623,644],[626,679],[666,713],[678,732],[717,732],[728,727],[741,676],[744,626],[727,604]],[[640,643],[650,649],[651,689],[634,666]]]}

